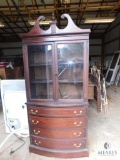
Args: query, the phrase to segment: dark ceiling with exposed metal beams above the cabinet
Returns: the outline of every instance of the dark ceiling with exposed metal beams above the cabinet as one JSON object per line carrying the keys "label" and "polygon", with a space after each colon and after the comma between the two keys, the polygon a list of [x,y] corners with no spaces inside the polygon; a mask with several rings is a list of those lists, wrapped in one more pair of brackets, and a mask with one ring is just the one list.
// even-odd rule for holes
{"label": "dark ceiling with exposed metal beams above the cabinet", "polygon": [[[0,21],[5,26],[0,27],[0,41],[21,41],[19,34],[32,28],[28,24],[29,19],[35,20],[40,15],[50,19],[53,12],[59,28],[67,24],[66,19],[60,18],[61,14],[68,13],[78,27],[91,29],[91,37],[102,37],[110,24],[85,24],[84,19],[117,16],[120,0],[1,0]],[[43,29],[48,27],[41,26]]]}

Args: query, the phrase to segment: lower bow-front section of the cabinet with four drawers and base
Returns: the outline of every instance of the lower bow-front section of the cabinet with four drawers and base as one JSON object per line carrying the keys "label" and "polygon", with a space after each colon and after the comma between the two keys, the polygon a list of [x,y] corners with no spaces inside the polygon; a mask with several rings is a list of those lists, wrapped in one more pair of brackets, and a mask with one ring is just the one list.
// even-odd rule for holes
{"label": "lower bow-front section of the cabinet with four drawers and base", "polygon": [[87,157],[87,105],[76,106],[29,105],[30,152],[58,158]]}

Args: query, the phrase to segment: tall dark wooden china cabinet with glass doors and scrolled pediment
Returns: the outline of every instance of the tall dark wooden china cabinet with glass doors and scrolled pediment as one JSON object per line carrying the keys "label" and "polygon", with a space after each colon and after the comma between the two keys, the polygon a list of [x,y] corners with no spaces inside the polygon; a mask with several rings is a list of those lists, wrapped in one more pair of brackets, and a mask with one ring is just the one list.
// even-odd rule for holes
{"label": "tall dark wooden china cabinet with glass doors and scrolled pediment", "polygon": [[89,29],[68,25],[48,30],[40,16],[21,34],[27,90],[30,152],[58,158],[88,156],[87,107]]}

